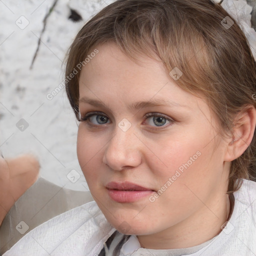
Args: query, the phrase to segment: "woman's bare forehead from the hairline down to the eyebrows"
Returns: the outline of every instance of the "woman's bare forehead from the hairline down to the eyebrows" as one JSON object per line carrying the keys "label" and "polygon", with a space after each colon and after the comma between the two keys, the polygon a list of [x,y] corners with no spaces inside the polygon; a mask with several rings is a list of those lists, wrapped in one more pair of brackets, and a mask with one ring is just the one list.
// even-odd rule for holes
{"label": "woman's bare forehead from the hairline down to the eyebrows", "polygon": [[[95,48],[98,53],[82,68],[79,77],[81,102],[97,100],[109,106],[126,104],[134,110],[147,101],[190,106],[198,99],[182,90],[160,61],[145,55],[137,56],[134,61],[114,43]],[[138,101],[144,103],[135,103]]]}

